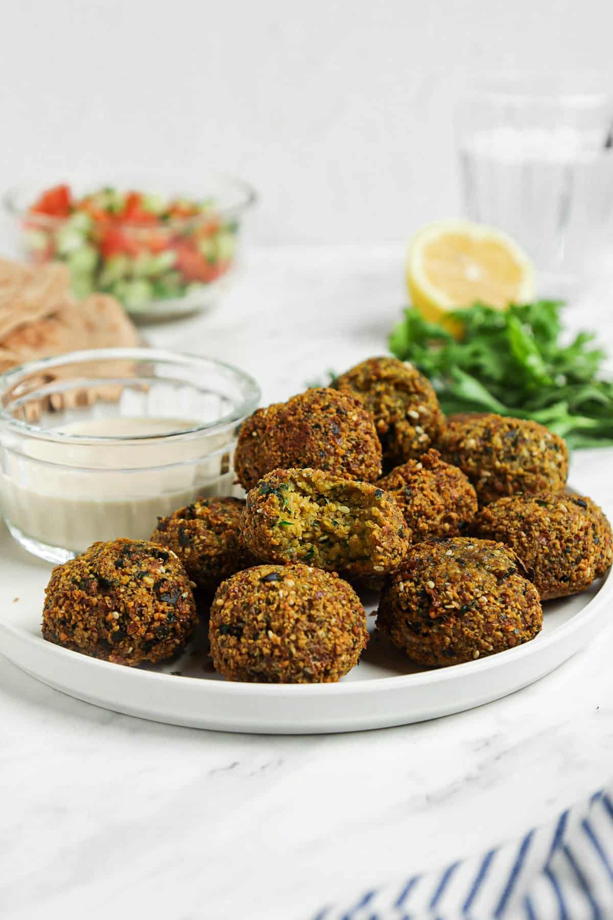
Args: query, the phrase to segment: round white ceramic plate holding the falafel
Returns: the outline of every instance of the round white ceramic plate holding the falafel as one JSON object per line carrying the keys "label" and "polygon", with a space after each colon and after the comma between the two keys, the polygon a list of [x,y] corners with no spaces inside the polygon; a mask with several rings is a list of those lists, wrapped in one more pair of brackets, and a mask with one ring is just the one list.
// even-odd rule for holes
{"label": "round white ceramic plate holding the falafel", "polygon": [[[608,573],[590,591],[547,602],[537,638],[480,661],[420,671],[375,634],[358,667],[339,684],[233,684],[212,671],[204,629],[180,660],[146,671],[46,642],[40,611],[51,567],[28,556],[6,530],[0,558],[0,650],[22,671],[96,706],[222,731],[379,729],[481,706],[532,684],[583,648],[610,617],[613,595]],[[376,597],[365,603],[372,611]],[[369,625],[372,630],[372,615]]]}

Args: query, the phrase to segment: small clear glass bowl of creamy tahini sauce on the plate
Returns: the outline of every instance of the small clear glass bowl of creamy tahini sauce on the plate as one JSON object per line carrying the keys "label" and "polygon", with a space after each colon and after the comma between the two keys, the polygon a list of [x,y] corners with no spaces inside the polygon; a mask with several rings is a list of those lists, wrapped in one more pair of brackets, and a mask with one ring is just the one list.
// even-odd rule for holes
{"label": "small clear glass bowl of creamy tahini sauce on the plate", "polygon": [[230,364],[99,349],[0,375],[0,502],[30,553],[65,562],[97,540],[148,539],[199,495],[233,495],[233,453],[260,389]]}

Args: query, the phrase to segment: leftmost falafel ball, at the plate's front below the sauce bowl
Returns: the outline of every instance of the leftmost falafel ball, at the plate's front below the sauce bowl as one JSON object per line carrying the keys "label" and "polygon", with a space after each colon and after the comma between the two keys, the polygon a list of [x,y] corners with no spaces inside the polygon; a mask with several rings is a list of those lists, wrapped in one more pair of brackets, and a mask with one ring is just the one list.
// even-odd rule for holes
{"label": "leftmost falafel ball, at the plate's front below the sauce bowl", "polygon": [[146,540],[95,543],[51,572],[42,635],[115,664],[174,658],[196,627],[187,573]]}

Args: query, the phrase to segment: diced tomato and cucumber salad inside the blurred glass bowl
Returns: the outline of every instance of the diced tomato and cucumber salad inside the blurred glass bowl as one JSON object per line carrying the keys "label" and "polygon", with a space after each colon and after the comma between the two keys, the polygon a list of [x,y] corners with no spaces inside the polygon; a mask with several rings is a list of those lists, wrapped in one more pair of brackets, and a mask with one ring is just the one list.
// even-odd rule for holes
{"label": "diced tomato and cucumber salad inside the blurred glass bowl", "polygon": [[78,198],[58,185],[28,209],[23,230],[30,259],[66,262],[77,297],[110,293],[138,311],[225,274],[237,224],[224,220],[213,201],[112,188]]}

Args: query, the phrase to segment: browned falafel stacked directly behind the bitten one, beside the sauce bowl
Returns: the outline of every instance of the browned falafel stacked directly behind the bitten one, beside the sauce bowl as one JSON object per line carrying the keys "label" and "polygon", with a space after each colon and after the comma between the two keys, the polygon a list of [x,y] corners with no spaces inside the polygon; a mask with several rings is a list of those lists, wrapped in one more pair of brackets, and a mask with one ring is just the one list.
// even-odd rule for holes
{"label": "browned falafel stacked directly behind the bitten one, beside the sauce bowl", "polygon": [[381,473],[374,422],[358,397],[329,387],[258,408],[246,419],[234,469],[247,491],[271,469],[309,466],[373,482]]}

